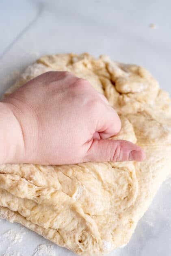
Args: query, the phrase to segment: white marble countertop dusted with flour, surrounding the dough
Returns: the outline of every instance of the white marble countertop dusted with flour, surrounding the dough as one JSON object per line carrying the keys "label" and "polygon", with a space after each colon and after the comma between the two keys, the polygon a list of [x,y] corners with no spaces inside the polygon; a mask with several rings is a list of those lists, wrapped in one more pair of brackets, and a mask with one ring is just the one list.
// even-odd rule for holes
{"label": "white marble countertop dusted with flour, surrounding the dough", "polygon": [[[146,67],[171,94],[171,1],[1,0],[0,95],[16,74],[44,54],[89,52]],[[150,28],[154,23],[156,29]],[[161,170],[162,171],[162,170]],[[171,181],[158,191],[130,243],[110,256],[171,255]],[[22,241],[2,234],[21,226],[0,221],[0,256],[32,256],[52,244],[26,229]],[[54,256],[74,256],[52,244]],[[15,251],[15,254],[14,254]],[[41,254],[51,256],[50,254]]]}

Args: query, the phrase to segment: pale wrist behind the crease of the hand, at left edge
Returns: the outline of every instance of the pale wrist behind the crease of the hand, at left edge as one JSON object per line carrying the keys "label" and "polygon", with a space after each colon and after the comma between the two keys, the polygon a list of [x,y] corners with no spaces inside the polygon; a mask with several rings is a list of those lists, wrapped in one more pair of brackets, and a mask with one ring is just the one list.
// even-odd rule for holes
{"label": "pale wrist behind the crease of the hand, at left edge", "polygon": [[0,102],[0,164],[19,163],[24,154],[22,129],[8,103]]}

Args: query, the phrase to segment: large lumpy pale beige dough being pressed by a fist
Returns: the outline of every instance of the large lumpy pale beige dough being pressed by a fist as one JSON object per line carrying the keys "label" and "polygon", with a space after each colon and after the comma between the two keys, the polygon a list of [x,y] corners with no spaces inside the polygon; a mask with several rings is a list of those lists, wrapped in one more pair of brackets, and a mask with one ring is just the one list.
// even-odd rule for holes
{"label": "large lumpy pale beige dough being pressed by a fist", "polygon": [[140,145],[146,160],[76,165],[1,165],[0,217],[76,254],[100,256],[128,243],[171,170],[169,95],[143,67],[87,53],[45,56],[30,65],[5,97],[50,70],[87,79],[120,115],[110,139]]}

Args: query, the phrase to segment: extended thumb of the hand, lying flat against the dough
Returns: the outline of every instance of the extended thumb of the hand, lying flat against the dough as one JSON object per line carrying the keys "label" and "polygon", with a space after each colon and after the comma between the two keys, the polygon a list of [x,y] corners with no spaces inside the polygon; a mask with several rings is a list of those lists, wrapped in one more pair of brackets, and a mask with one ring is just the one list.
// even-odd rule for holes
{"label": "extended thumb of the hand, lying flat against the dough", "polygon": [[143,161],[145,152],[130,141],[96,139],[93,140],[86,159],[94,162]]}

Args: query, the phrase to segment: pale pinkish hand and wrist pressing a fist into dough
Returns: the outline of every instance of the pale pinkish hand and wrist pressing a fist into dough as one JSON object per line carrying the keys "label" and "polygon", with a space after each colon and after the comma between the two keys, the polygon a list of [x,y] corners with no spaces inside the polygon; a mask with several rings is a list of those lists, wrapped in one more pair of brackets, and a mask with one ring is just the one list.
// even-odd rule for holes
{"label": "pale pinkish hand and wrist pressing a fist into dough", "polygon": [[120,129],[116,111],[87,80],[47,72],[0,102],[0,163],[142,161],[139,146],[108,140]]}

